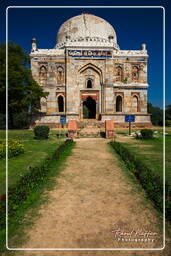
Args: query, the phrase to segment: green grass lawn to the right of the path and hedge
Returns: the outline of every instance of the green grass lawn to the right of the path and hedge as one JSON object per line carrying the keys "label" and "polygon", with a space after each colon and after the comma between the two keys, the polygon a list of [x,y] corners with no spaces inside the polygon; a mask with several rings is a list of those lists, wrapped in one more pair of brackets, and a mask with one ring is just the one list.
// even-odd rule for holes
{"label": "green grass lawn to the right of the path and hedge", "polygon": [[[156,130],[156,129],[154,129]],[[166,135],[166,179],[171,185],[171,131]],[[163,135],[158,130],[159,137],[153,140],[130,139],[123,142],[126,147],[155,172],[163,177]],[[116,139],[117,141],[117,139]]]}

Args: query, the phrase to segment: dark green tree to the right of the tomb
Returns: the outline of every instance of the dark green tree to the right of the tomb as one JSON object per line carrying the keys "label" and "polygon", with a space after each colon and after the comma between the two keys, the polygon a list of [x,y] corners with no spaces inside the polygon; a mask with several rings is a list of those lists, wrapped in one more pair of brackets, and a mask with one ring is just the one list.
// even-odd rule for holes
{"label": "dark green tree to the right of the tomb", "polygon": [[151,122],[153,125],[163,125],[163,110],[153,106],[151,103],[147,105],[148,113],[151,114]]}

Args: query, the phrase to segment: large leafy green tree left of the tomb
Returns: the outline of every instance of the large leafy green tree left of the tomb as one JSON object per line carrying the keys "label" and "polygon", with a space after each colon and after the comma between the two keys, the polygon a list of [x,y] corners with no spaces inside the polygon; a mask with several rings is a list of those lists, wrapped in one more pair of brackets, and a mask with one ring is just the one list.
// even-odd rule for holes
{"label": "large leafy green tree left of the tomb", "polygon": [[[5,49],[6,44],[0,44],[0,112],[5,113]],[[28,118],[29,113],[39,110],[40,99],[47,93],[32,78],[29,69],[29,56],[21,46],[8,43],[8,114],[9,126],[15,127],[15,119],[21,113]],[[22,120],[21,120],[22,121]]]}

